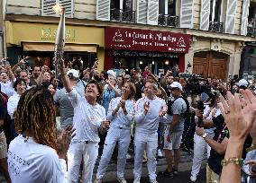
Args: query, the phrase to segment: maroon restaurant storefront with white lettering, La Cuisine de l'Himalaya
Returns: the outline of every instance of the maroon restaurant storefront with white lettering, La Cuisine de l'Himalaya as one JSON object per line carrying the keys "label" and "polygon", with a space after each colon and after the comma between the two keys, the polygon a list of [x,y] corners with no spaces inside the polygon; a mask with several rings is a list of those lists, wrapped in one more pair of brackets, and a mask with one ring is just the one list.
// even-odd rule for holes
{"label": "maroon restaurant storefront with white lettering, La Cuisine de l'Himalaya", "polygon": [[149,66],[154,74],[178,65],[185,70],[190,36],[159,30],[105,28],[105,70]]}

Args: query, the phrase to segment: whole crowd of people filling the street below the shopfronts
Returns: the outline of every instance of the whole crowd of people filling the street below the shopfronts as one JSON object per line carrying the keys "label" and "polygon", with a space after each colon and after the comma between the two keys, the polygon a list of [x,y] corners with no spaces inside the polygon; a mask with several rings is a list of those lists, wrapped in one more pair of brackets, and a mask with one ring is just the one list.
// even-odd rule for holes
{"label": "whole crowd of people filling the street below the shopfronts", "polygon": [[[23,69],[24,59],[1,63],[0,166],[7,182],[100,183],[115,158],[116,179],[126,183],[132,148],[133,183],[144,161],[156,183],[178,176],[181,144],[194,149],[192,182],[205,153],[207,183],[254,181],[256,81],[178,74],[178,65],[159,78],[149,67],[99,73],[97,60],[85,70],[78,59],[67,66],[62,60],[59,74],[50,65]],[[163,151],[167,168],[158,171]]]}

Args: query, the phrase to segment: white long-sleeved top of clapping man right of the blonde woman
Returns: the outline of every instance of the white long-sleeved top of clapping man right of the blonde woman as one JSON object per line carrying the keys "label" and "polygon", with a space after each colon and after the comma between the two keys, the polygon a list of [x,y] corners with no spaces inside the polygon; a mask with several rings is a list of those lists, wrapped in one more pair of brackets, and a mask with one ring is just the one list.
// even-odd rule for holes
{"label": "white long-sleeved top of clapping man right of the blonde woman", "polygon": [[[150,102],[150,109],[144,115],[144,103]],[[143,97],[136,102],[135,116],[136,132],[154,133],[157,132],[159,123],[165,119],[159,116],[160,109],[167,109],[165,100],[156,97],[154,100],[149,100]]]}

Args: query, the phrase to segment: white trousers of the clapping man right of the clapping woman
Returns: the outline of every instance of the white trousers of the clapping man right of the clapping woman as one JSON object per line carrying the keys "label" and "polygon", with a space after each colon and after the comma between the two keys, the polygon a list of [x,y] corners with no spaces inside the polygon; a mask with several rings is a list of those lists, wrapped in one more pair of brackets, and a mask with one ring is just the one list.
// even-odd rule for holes
{"label": "white trousers of the clapping man right of the clapping woman", "polygon": [[153,134],[135,133],[134,137],[134,149],[135,149],[135,157],[134,157],[134,179],[141,178],[142,176],[142,160],[144,150],[147,152],[148,157],[148,171],[150,179],[156,179],[156,153],[158,148],[158,133],[155,132]]}

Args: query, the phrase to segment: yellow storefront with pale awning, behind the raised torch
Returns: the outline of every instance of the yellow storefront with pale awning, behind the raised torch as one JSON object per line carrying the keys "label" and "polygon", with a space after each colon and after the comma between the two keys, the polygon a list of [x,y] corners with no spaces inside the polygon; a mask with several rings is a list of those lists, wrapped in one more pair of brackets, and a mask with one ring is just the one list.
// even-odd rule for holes
{"label": "yellow storefront with pale awning, behind the raised torch", "polygon": [[[48,65],[54,56],[58,24],[5,22],[8,57],[15,64],[19,58],[30,57],[30,65]],[[66,25],[65,57],[81,57],[84,65],[99,59],[104,66],[105,29]]]}

